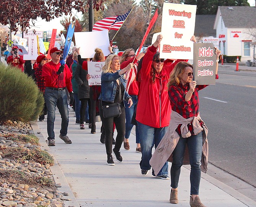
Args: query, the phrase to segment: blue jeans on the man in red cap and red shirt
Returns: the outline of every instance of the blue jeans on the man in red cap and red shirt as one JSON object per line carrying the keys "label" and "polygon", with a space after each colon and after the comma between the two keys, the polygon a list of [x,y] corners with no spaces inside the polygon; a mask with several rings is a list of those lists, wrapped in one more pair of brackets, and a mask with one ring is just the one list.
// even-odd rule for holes
{"label": "blue jeans on the man in red cap and red shirt", "polygon": [[55,121],[55,108],[59,109],[60,116],[62,117],[62,124],[60,134],[66,136],[68,133],[68,105],[66,91],[57,91],[50,88],[45,88],[44,99],[47,107],[47,133],[48,140],[54,139],[54,121]]}

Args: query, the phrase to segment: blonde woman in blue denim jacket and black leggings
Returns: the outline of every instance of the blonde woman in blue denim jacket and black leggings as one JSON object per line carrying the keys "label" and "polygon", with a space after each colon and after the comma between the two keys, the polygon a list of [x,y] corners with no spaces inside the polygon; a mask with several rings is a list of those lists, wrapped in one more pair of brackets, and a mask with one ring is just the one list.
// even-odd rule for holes
{"label": "blonde woman in blue denim jacket and black leggings", "polygon": [[[107,152],[107,165],[115,165],[112,157],[112,139],[113,139],[113,122],[117,128],[117,138],[115,153],[118,162],[122,162],[123,158],[120,154],[120,148],[125,136],[125,105],[124,101],[128,101],[129,107],[133,104],[131,96],[125,90],[125,78],[123,74],[133,67],[133,63],[130,63],[127,67],[120,70],[120,63],[118,55],[110,55],[105,60],[105,65],[102,67],[101,74],[101,94],[99,96],[99,110],[100,118],[102,120],[103,127],[105,129],[106,139],[105,146]],[[88,75],[89,76],[89,75]],[[90,77],[88,77],[89,79]],[[111,106],[113,103],[120,104],[121,114],[118,116],[107,117],[103,114],[102,106]]]}

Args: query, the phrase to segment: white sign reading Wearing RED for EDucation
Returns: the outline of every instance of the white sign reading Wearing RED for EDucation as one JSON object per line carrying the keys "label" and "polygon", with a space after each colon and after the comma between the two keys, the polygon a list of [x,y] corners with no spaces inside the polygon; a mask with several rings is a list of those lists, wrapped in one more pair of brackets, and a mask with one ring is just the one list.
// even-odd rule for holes
{"label": "white sign reading Wearing RED for EDucation", "polygon": [[195,21],[196,5],[164,3],[160,58],[193,59]]}

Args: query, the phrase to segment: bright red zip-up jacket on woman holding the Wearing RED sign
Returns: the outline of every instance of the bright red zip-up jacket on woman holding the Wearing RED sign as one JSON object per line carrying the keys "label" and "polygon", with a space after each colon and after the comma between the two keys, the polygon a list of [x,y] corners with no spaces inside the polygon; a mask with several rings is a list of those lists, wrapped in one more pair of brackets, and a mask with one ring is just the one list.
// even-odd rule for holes
{"label": "bright red zip-up jacket on woman holding the Wearing RED sign", "polygon": [[149,47],[143,58],[136,120],[150,127],[161,128],[167,127],[170,122],[171,105],[167,90],[170,72],[179,61],[186,60],[177,60],[164,66],[160,74],[156,73],[155,83],[152,83],[150,70],[156,49],[154,46]]}

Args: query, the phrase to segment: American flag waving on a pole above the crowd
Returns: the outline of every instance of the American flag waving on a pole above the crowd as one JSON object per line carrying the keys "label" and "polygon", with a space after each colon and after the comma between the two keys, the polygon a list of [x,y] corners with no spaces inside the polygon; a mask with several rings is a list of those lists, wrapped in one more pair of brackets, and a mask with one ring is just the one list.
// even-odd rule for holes
{"label": "American flag waving on a pole above the crowd", "polygon": [[110,17],[106,17],[104,19],[101,19],[100,21],[97,21],[92,30],[93,31],[101,31],[101,30],[118,30],[123,22],[125,22],[125,19],[127,18],[127,16],[130,14],[130,11],[127,11],[125,14],[123,15],[118,15],[118,16],[110,16]]}

